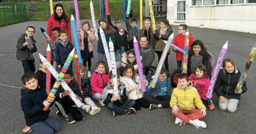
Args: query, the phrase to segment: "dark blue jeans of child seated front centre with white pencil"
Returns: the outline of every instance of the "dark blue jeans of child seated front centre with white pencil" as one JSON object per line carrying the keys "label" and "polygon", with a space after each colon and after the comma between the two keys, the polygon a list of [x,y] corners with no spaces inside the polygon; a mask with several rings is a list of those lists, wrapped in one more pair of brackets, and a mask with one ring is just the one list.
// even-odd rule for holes
{"label": "dark blue jeans of child seated front centre with white pencil", "polygon": [[135,104],[134,100],[127,100],[126,102],[123,102],[123,105],[116,106],[113,102],[109,102],[107,104],[108,109],[116,112],[117,114],[123,115],[126,113],[126,110],[131,108]]}

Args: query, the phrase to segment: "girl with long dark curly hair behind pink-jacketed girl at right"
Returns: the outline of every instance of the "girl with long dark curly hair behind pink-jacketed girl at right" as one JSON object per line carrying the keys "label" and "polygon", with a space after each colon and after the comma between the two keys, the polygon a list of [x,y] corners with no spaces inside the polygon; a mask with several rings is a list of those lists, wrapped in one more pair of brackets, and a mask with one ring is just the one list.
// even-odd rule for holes
{"label": "girl with long dark curly hair behind pink-jacketed girl at right", "polygon": [[206,67],[206,73],[211,78],[212,63],[211,56],[207,52],[204,44],[200,40],[195,40],[188,53],[188,75],[194,72],[195,68],[199,64],[203,64]]}

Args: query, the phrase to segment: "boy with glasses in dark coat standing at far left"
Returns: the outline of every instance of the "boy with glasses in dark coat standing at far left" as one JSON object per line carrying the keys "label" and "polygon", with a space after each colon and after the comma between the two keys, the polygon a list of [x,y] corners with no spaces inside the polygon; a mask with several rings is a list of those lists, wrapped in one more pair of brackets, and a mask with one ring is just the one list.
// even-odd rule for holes
{"label": "boy with glasses in dark coat standing at far left", "polygon": [[37,51],[36,41],[33,38],[35,30],[33,26],[28,26],[25,34],[21,34],[17,41],[16,57],[18,60],[21,60],[24,73],[30,71],[35,73],[36,71],[35,59],[33,57],[33,53]]}

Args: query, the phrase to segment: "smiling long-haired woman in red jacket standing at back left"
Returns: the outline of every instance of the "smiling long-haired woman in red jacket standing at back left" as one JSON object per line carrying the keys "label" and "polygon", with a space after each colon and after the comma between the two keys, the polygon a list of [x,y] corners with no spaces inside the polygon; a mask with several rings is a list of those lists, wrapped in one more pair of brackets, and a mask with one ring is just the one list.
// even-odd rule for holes
{"label": "smiling long-haired woman in red jacket standing at back left", "polygon": [[64,12],[63,6],[61,4],[55,5],[54,14],[49,18],[47,23],[47,34],[51,37],[52,41],[55,41],[56,39],[52,34],[52,28],[55,26],[59,26],[61,30],[67,31],[68,41],[72,42],[70,20]]}

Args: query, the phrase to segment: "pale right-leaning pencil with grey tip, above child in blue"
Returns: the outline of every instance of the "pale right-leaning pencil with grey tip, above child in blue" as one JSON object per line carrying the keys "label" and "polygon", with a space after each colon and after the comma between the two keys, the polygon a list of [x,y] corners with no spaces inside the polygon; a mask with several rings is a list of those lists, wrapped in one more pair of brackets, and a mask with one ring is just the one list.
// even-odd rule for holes
{"label": "pale right-leaning pencil with grey tip, above child in blue", "polygon": [[159,63],[158,63],[157,69],[156,69],[156,73],[155,73],[154,79],[152,81],[153,82],[152,88],[155,88],[155,86],[156,86],[157,79],[158,79],[158,77],[160,75],[160,72],[161,72],[161,69],[162,69],[162,67],[164,65],[165,57],[167,55],[168,50],[170,49],[170,45],[169,44],[172,43],[173,36],[174,36],[174,32],[170,35],[167,43],[165,44],[164,51],[163,51],[162,56],[161,56],[161,58],[159,60]]}

